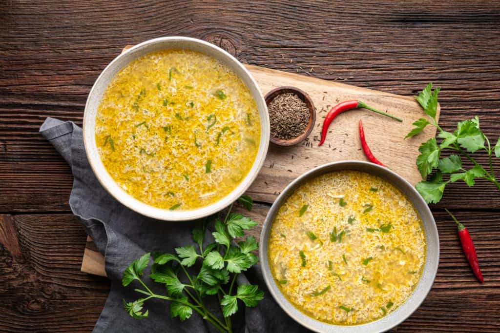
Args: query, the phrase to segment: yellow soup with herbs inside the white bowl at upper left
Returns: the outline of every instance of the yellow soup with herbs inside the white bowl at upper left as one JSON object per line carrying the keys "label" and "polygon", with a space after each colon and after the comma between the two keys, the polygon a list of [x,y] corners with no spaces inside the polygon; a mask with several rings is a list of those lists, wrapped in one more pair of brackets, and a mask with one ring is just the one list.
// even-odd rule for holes
{"label": "yellow soup with herbs inside the white bowl at upper left", "polygon": [[95,141],[105,168],[134,198],[190,210],[229,194],[250,170],[260,118],[248,88],[200,52],[142,56],[107,86]]}

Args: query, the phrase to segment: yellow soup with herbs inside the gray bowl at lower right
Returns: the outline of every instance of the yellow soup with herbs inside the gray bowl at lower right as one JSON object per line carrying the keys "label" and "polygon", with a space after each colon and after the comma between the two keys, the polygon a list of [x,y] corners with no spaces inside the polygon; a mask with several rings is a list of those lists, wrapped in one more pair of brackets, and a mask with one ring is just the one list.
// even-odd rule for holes
{"label": "yellow soup with herbs inside the gray bowl at lower right", "polygon": [[364,172],[332,172],[309,180],[280,207],[268,260],[299,311],[357,325],[407,300],[425,263],[425,235],[415,208],[394,186]]}

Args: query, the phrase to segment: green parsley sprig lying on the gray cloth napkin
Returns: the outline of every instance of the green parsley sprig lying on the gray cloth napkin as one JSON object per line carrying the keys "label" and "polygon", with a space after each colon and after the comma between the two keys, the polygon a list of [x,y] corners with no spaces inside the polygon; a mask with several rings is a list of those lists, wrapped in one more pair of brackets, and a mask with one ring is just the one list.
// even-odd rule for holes
{"label": "green parsley sprig lying on the gray cloth napkin", "polygon": [[[238,199],[248,210],[253,201],[244,196]],[[134,289],[143,294],[132,302],[123,300],[125,311],[135,319],[147,318],[148,311],[143,310],[144,302],[150,299],[169,301],[170,316],[184,321],[191,317],[193,311],[213,325],[219,332],[230,333],[230,316],[238,310],[238,300],[247,307],[255,307],[262,300],[263,292],[257,285],[242,284],[233,290],[239,273],[246,271],[258,261],[251,252],[258,249],[253,236],[244,241],[233,242],[236,237],[244,236],[243,230],[249,230],[257,224],[250,218],[231,213],[229,207],[223,220],[216,218],[215,231],[212,232],[214,242],[206,246],[206,224],[199,223],[192,230],[192,240],[196,245],[175,248],[175,254],[154,253],[149,278],[166,287],[166,296],[155,294],[144,283],[142,275],[150,262],[150,253],[133,261],[123,272],[122,285],[127,287],[136,281],[142,288]],[[197,272],[191,275],[186,268],[193,267]],[[232,277],[231,277],[232,275]],[[230,281],[230,283],[229,283]],[[216,295],[220,306],[219,314],[208,311],[204,301]]]}

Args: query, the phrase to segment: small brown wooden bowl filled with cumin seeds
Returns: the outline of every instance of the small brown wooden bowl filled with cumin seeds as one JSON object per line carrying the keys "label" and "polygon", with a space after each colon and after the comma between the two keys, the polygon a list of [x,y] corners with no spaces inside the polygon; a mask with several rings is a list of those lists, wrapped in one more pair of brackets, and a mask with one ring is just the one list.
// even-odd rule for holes
{"label": "small brown wooden bowl filled with cumin seeds", "polygon": [[295,87],[278,87],[265,95],[271,127],[270,141],[291,146],[304,140],[314,127],[316,111],[310,97]]}

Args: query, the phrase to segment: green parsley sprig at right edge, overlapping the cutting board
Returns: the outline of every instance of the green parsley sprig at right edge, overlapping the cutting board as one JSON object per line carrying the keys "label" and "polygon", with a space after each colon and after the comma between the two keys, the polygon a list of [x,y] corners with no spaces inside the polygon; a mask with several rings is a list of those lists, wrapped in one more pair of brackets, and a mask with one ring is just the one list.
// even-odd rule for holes
{"label": "green parsley sprig at right edge, overlapping the cutting board", "polygon": [[[500,138],[492,146],[479,128],[478,116],[458,122],[456,130],[453,132],[444,131],[436,120],[438,93],[439,87],[432,90],[432,83],[429,83],[418,96],[415,96],[429,120],[420,118],[413,122],[415,127],[405,137],[417,135],[425,126],[431,125],[438,129],[437,137],[441,139],[439,145],[435,138],[431,138],[418,148],[420,155],[416,159],[416,165],[423,181],[416,184],[416,190],[427,203],[438,203],[442,198],[445,186],[457,180],[463,180],[470,187],[474,185],[475,179],[483,178],[492,182],[500,190],[500,183],[495,178],[491,159],[493,154],[500,157]],[[444,149],[450,149],[457,153],[441,158],[441,152]],[[488,154],[489,172],[486,170],[487,168],[483,168],[469,155],[469,153],[483,149]],[[472,162],[474,166],[466,170],[462,166],[462,156]],[[437,169],[435,173],[427,180],[427,176],[435,169]],[[443,174],[449,174],[449,178],[443,180]]]}

